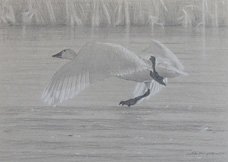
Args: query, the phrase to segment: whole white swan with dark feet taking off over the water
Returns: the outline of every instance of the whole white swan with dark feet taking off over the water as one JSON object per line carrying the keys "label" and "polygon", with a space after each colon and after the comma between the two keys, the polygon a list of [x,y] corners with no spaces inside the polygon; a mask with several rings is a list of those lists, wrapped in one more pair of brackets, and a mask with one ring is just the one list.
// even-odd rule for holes
{"label": "whole white swan with dark feet taking off over the water", "polygon": [[114,76],[137,82],[134,98],[120,102],[131,106],[158,93],[167,78],[186,75],[177,57],[158,41],[153,40],[141,56],[121,45],[100,42],[86,43],[78,53],[62,50],[53,57],[71,61],[54,74],[41,98],[49,105],[56,105],[90,84]]}

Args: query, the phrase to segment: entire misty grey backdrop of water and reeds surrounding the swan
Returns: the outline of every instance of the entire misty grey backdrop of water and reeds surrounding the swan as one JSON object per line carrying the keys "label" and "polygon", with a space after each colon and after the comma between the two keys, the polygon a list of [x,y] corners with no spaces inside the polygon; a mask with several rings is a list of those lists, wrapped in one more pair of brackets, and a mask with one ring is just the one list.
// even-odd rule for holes
{"label": "entire misty grey backdrop of water and reeds surrounding the swan", "polygon": [[[228,0],[0,0],[0,161],[226,162]],[[109,78],[57,107],[40,99],[89,41],[140,55],[151,39],[189,76],[131,108],[136,83]]]}

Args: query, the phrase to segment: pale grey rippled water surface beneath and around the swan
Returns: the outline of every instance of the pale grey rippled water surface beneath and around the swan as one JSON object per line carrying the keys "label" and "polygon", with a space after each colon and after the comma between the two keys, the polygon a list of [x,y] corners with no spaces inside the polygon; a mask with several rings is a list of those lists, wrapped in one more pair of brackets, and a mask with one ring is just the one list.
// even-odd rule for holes
{"label": "pale grey rippled water surface beneath and around the swan", "polygon": [[[91,40],[139,53],[163,42],[189,76],[131,108],[135,83],[110,78],[72,100],[48,107],[40,95],[67,61],[51,56],[78,51]],[[0,161],[81,162],[228,160],[228,29],[169,27],[0,29]]]}

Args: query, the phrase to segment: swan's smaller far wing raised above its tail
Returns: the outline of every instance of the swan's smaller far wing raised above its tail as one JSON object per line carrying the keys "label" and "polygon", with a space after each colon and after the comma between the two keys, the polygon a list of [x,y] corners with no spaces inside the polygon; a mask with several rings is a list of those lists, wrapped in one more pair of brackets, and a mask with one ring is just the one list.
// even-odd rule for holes
{"label": "swan's smaller far wing raised above its tail", "polygon": [[178,60],[176,55],[170,51],[163,43],[157,40],[152,40],[150,45],[142,51],[141,55],[147,60],[149,60],[150,56],[153,55],[156,57],[158,64],[169,64],[178,70],[184,70],[184,66]]}

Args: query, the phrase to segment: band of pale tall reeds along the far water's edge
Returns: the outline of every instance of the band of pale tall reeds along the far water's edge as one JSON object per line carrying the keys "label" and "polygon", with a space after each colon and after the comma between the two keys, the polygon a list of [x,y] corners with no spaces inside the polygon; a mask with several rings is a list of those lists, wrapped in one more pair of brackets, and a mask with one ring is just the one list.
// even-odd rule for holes
{"label": "band of pale tall reeds along the far water's edge", "polygon": [[227,27],[228,0],[0,0],[8,25]]}

